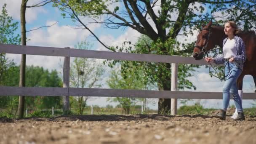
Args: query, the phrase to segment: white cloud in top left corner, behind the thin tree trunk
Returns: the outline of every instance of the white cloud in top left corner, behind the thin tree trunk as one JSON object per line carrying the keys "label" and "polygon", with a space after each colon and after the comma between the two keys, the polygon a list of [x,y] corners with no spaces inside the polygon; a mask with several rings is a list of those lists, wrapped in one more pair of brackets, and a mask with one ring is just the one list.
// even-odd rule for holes
{"label": "white cloud in top left corner, behind the thin tree trunk", "polygon": [[[35,5],[42,2],[42,0],[29,0],[27,6]],[[1,0],[0,5],[2,10],[2,5],[6,3],[6,9],[8,14],[13,17],[14,20],[20,20],[20,9],[21,9],[21,0]],[[26,9],[26,22],[31,23],[35,21],[40,13],[47,13],[44,7],[34,7]]]}

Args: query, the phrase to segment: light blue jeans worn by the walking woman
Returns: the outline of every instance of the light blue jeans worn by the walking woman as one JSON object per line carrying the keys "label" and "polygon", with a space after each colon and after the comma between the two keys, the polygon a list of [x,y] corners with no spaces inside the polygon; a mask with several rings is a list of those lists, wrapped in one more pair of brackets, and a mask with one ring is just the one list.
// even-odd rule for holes
{"label": "light blue jeans worn by the walking woman", "polygon": [[241,74],[242,70],[238,68],[235,62],[225,63],[225,78],[226,81],[223,85],[223,110],[227,111],[227,107],[229,105],[230,93],[233,95],[233,99],[235,102],[235,107],[237,108],[237,112],[243,112],[242,102],[240,96],[238,95],[238,89],[236,85],[237,78]]}

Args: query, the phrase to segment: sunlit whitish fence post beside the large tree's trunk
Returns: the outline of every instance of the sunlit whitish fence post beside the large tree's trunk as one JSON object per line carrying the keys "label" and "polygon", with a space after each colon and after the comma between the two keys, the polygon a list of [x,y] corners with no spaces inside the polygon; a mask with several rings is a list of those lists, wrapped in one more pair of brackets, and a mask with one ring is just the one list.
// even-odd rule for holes
{"label": "sunlit whitish fence post beside the large tree's trunk", "polygon": [[[177,91],[178,64],[171,64],[171,91]],[[177,99],[171,99],[171,115],[177,115]]]}

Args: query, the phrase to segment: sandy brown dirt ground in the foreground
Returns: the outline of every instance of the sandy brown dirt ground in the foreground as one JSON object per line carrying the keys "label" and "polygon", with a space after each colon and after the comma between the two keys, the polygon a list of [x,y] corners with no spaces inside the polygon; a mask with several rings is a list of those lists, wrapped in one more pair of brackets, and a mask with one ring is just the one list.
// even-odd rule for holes
{"label": "sandy brown dirt ground in the foreground", "polygon": [[0,118],[0,144],[256,144],[256,116],[83,115]]}

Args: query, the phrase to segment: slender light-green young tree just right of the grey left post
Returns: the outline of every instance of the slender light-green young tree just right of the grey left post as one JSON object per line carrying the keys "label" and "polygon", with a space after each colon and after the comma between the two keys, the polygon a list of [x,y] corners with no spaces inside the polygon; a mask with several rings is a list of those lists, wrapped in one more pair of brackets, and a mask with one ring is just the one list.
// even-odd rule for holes
{"label": "slender light-green young tree just right of the grey left post", "polygon": [[[77,43],[75,48],[78,49],[88,49],[91,45],[86,41]],[[70,69],[70,83],[72,87],[76,88],[92,88],[100,87],[101,85],[97,82],[102,80],[101,76],[104,73],[104,68],[101,64],[98,64],[95,59],[87,58],[75,58],[71,64]],[[86,102],[89,96],[78,96],[77,102],[77,112],[83,115],[83,111],[86,106]]]}

